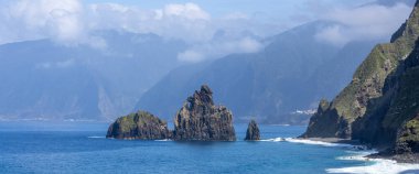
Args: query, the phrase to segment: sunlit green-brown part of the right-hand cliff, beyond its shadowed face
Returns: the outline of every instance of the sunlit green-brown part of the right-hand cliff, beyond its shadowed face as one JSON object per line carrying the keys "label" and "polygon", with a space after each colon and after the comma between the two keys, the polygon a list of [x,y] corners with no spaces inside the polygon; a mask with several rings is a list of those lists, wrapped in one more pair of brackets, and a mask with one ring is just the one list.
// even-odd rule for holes
{"label": "sunlit green-brown part of the right-hand cliff, beyond its shadowed face", "polygon": [[[321,104],[302,137],[350,139],[355,134],[354,137],[358,139],[359,127],[366,124],[354,123],[355,120],[368,122],[365,127],[367,129],[379,130],[380,119],[372,120],[363,117],[385,116],[383,115],[386,113],[385,108],[388,108],[394,95],[389,91],[396,89],[391,87],[393,76],[397,76],[400,63],[411,53],[418,36],[419,3],[417,2],[409,19],[393,35],[391,42],[377,45],[356,69],[351,84],[331,104]],[[356,127],[355,133],[353,133],[354,127]]]}

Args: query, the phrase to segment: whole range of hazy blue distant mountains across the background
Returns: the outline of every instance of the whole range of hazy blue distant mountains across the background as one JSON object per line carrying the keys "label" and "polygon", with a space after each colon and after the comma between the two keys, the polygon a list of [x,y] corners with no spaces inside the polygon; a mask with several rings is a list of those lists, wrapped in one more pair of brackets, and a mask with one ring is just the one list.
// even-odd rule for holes
{"label": "whole range of hazy blue distant mountains across the background", "polygon": [[191,45],[155,34],[98,31],[105,47],[50,40],[0,45],[0,120],[114,120],[137,109],[171,120],[185,96],[207,84],[235,121],[307,123],[319,100],[346,86],[382,42],[320,42],[318,31],[333,24],[311,22],[269,39],[245,33],[266,47],[194,64],[178,59]]}

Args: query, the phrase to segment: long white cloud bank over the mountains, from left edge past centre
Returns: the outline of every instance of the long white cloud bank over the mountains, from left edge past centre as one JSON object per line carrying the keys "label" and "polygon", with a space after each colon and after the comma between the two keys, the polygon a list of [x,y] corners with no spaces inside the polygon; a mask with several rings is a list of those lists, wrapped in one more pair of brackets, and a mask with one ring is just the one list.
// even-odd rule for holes
{"label": "long white cloud bank over the mountains, from left edge past centre", "polygon": [[[0,31],[4,32],[0,32],[0,43],[52,39],[64,45],[88,44],[106,48],[106,41],[92,33],[98,30],[155,33],[184,40],[191,45],[190,50],[179,54],[182,62],[257,52],[261,44],[241,33],[264,35],[273,29],[240,12],[213,19],[195,3],[173,3],[160,9],[119,3],[83,4],[78,0],[19,0],[0,4],[7,4],[1,8],[3,25]],[[214,40],[219,30],[226,33]]]}

